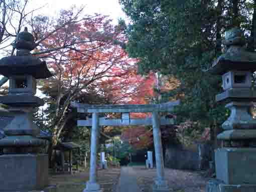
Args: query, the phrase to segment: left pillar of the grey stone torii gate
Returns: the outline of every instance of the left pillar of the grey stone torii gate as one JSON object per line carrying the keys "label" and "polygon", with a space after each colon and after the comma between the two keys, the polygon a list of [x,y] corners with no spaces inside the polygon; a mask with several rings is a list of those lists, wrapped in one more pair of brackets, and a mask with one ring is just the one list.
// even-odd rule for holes
{"label": "left pillar of the grey stone torii gate", "polygon": [[100,185],[97,184],[96,171],[97,171],[97,134],[99,128],[98,113],[92,113],[92,127],[91,127],[91,156],[90,156],[90,178],[86,183],[84,192],[101,192]]}

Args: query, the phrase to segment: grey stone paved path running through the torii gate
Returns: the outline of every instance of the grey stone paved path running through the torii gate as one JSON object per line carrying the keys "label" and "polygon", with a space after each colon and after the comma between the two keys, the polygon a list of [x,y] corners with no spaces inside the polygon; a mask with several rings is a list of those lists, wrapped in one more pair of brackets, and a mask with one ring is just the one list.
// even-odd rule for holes
{"label": "grey stone paved path running through the torii gate", "polygon": [[116,192],[140,192],[137,185],[136,170],[130,166],[121,167],[121,174]]}

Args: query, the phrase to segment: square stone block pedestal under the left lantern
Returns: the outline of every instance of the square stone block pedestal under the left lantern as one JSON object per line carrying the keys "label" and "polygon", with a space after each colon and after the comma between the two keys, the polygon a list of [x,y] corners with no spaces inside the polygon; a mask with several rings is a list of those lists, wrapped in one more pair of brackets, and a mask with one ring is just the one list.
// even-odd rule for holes
{"label": "square stone block pedestal under the left lantern", "polygon": [[42,190],[48,185],[48,155],[0,156],[0,191]]}

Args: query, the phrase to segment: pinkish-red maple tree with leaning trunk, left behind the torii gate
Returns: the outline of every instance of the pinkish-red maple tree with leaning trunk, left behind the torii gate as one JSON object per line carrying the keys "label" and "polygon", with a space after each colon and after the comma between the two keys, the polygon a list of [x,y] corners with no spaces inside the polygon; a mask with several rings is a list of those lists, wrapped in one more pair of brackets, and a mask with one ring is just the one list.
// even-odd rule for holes
{"label": "pinkish-red maple tree with leaning trunk, left behind the torii gate", "polygon": [[[77,22],[63,26],[74,13],[70,10],[61,14],[60,20],[52,26],[58,30],[53,30],[51,34],[45,33],[43,36],[48,38],[40,41],[34,53],[47,60],[54,74],[41,87],[46,95],[52,97],[51,102],[55,103],[52,114],[54,145],[65,124],[74,118],[74,114],[68,113],[71,101],[76,101],[90,90],[95,90],[98,95],[102,89],[104,94],[108,92],[110,95],[114,90],[117,93],[116,87],[135,71],[134,61],[121,47],[120,42],[125,41],[125,38],[120,26],[113,26],[108,17],[101,15],[86,16],[80,20],[77,18]],[[40,25],[37,28],[34,25],[35,36],[40,35],[40,29]]]}

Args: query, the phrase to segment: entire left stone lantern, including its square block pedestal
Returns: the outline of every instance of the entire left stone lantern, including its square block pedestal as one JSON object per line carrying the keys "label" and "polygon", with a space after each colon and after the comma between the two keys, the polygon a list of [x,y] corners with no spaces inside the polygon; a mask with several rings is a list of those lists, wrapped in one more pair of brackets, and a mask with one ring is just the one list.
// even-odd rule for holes
{"label": "entire left stone lantern, including its square block pedestal", "polygon": [[16,56],[0,60],[0,74],[10,79],[9,94],[0,97],[15,116],[5,127],[7,137],[0,140],[4,155],[0,156],[0,191],[28,191],[48,185],[48,155],[40,154],[45,141],[36,136],[40,129],[33,123],[33,109],[44,105],[35,96],[37,79],[51,77],[46,63],[30,53],[34,38],[25,28],[14,43]]}

